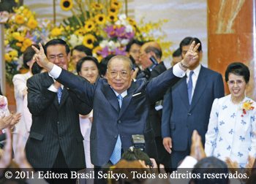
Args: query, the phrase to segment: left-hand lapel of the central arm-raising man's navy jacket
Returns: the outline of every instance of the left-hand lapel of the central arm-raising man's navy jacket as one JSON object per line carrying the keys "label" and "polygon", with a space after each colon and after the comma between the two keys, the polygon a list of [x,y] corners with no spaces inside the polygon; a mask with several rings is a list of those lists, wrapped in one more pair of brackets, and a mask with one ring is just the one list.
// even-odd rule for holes
{"label": "left-hand lapel of the central arm-raising man's navy jacket", "polygon": [[119,112],[119,103],[118,99],[116,97],[116,94],[114,91],[110,88],[108,83],[104,83],[102,85],[102,93],[104,94],[105,98],[108,100],[108,102],[116,109],[116,111]]}

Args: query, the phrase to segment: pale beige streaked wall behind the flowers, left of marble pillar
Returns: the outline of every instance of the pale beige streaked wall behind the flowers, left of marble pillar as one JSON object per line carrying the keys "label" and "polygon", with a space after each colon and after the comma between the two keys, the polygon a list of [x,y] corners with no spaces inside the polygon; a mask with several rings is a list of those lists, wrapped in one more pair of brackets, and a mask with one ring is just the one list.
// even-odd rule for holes
{"label": "pale beige streaked wall behind the flowers, left of marble pillar", "polygon": [[[59,6],[61,0],[56,0],[56,25],[61,23],[63,18],[72,15]],[[125,13],[125,0],[122,3],[122,13]],[[96,1],[97,2],[97,1]],[[48,18],[53,20],[53,0],[34,1],[24,0],[24,4],[33,11],[37,11],[37,18]],[[167,34],[167,40],[173,42],[172,50],[178,48],[184,37],[197,37],[203,45],[202,64],[208,66],[207,61],[207,0],[127,0],[127,14],[140,22],[151,20],[157,22],[160,18],[168,20],[162,26],[162,30]],[[170,66],[170,59],[165,62]]]}

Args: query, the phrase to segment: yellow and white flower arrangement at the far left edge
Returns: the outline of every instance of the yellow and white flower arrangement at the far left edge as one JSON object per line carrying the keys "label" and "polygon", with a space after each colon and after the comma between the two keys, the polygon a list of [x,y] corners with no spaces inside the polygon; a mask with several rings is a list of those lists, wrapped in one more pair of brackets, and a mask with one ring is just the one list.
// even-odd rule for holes
{"label": "yellow and white flower arrangement at the far left edge", "polygon": [[13,13],[0,12],[0,23],[4,24],[4,46],[7,83],[12,85],[12,77],[20,73],[23,52],[32,44],[48,42],[49,20],[37,20],[35,12],[26,6],[13,9]]}

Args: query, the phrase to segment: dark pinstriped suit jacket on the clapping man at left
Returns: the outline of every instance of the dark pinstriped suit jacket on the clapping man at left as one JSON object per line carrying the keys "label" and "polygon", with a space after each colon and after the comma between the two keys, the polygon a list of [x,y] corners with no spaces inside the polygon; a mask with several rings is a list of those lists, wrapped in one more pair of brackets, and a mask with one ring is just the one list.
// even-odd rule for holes
{"label": "dark pinstriped suit jacket on the clapping man at left", "polygon": [[57,94],[48,90],[53,83],[48,72],[35,74],[27,81],[32,126],[26,156],[34,168],[52,168],[61,149],[69,168],[85,168],[79,114],[88,114],[91,107],[66,88],[59,104]]}

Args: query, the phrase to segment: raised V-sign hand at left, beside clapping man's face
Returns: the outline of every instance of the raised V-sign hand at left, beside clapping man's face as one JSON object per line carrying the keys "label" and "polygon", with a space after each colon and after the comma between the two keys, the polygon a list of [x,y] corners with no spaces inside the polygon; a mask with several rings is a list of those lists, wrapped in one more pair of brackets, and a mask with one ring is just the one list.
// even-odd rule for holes
{"label": "raised V-sign hand at left, beside clapping man's face", "polygon": [[36,47],[34,47],[33,45],[32,45],[32,48],[36,52],[34,54],[34,60],[37,61],[37,64],[39,64],[39,66],[45,68],[48,72],[50,72],[50,70],[53,69],[54,64],[52,64],[48,61],[48,58],[45,55],[45,51],[44,51],[41,43],[39,43],[39,50]]}

